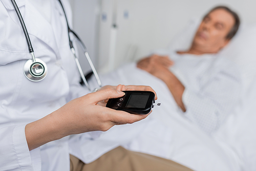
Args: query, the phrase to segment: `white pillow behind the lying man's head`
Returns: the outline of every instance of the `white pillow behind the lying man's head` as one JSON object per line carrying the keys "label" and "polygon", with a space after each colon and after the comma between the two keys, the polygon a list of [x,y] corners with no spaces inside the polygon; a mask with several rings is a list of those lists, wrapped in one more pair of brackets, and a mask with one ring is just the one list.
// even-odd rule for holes
{"label": "white pillow behind the lying man's head", "polygon": [[[187,50],[200,23],[200,19],[191,19],[188,26],[172,40],[169,48]],[[256,76],[256,24],[242,24],[236,36],[220,51],[220,54],[237,63],[241,70],[244,88],[247,89]]]}

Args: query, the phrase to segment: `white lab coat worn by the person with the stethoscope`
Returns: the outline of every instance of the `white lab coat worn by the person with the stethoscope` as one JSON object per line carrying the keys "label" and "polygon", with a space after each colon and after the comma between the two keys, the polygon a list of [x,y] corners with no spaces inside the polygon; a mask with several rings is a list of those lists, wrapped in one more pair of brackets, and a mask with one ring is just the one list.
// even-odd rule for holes
{"label": "white lab coat worn by the person with the stethoscope", "polygon": [[[122,125],[117,128],[122,134],[116,134],[114,129],[101,137],[106,140],[103,145],[101,141],[94,141],[98,138],[98,133],[94,132],[68,136],[29,151],[26,124],[45,117],[89,91],[79,84],[80,75],[69,47],[67,23],[59,2],[51,1],[51,24],[29,1],[16,0],[16,3],[24,18],[35,57],[47,63],[48,75],[39,82],[25,77],[23,66],[31,59],[26,38],[11,1],[1,0],[0,170],[68,171],[69,154],[90,163],[111,149],[130,142],[148,123],[155,123],[143,120]],[[71,25],[69,2],[62,0],[62,4]],[[166,134],[168,132],[157,135],[157,139]]]}

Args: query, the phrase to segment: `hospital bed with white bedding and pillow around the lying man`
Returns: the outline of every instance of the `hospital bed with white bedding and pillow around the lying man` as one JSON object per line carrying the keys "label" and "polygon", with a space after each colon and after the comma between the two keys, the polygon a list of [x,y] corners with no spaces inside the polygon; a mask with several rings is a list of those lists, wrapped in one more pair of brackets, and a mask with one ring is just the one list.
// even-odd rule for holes
{"label": "hospital bed with white bedding and pillow around the lying man", "polygon": [[[198,24],[198,19],[191,20],[169,48],[188,48]],[[256,25],[242,25],[228,47],[220,52],[240,67],[243,95],[240,104],[214,135],[206,135],[182,115],[176,115],[175,111],[180,109],[175,105],[166,85],[160,79],[136,68],[135,63],[130,63],[112,73],[101,75],[102,83],[151,86],[157,92],[158,102],[162,104],[154,108],[147,118],[151,119],[152,124],[144,124],[143,127],[145,121],[141,121],[124,126],[123,130],[115,126],[106,133],[108,136],[103,135],[98,141],[109,141],[106,137],[138,129],[134,131],[136,138],[132,143],[120,141],[120,145],[133,151],[171,159],[195,170],[256,170],[256,112],[253,109],[256,105],[255,46]],[[148,143],[149,139],[153,142]],[[118,137],[112,139],[118,140]],[[156,144],[156,147],[152,147],[152,144]]]}

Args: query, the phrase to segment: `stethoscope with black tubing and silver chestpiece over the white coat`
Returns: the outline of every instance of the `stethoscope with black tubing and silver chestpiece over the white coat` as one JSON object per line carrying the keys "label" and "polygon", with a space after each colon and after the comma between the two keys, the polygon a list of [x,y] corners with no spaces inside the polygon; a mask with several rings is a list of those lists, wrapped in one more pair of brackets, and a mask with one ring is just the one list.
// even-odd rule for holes
{"label": "stethoscope with black tubing and silver chestpiece over the white coat", "polygon": [[[99,85],[99,87],[101,87],[102,84],[101,84],[101,81],[99,79],[99,75],[97,74],[97,71],[96,71],[96,69],[95,69],[95,67],[93,65],[93,62],[92,62],[92,60],[91,60],[91,58],[90,58],[90,56],[89,56],[89,54],[88,54],[88,52],[86,50],[86,46],[84,46],[82,40],[77,36],[77,34],[73,30],[70,29],[69,23],[68,23],[68,19],[67,19],[67,16],[66,16],[66,12],[65,12],[65,10],[64,10],[64,8],[62,6],[61,1],[60,0],[58,0],[58,1],[60,3],[60,6],[61,6],[61,8],[62,8],[62,10],[64,12],[64,15],[65,15],[65,18],[66,18],[66,22],[67,22],[67,26],[68,26],[68,35],[69,35],[69,46],[70,46],[70,49],[72,51],[73,56],[75,57],[77,68],[79,70],[79,73],[81,75],[83,83],[86,85],[86,87],[90,91],[92,91],[90,86],[89,86],[89,84],[88,84],[88,82],[87,82],[87,80],[86,80],[86,77],[84,77],[84,75],[83,75],[82,68],[80,66],[79,60],[78,60],[78,58],[76,56],[76,52],[75,52],[75,49],[74,49],[74,46],[73,46],[73,41],[70,39],[70,33],[72,33],[76,37],[76,39],[78,40],[79,44],[81,45],[82,50],[84,52],[84,55],[86,56],[86,58],[87,58],[87,60],[89,62],[89,65],[90,65],[90,67],[91,67],[91,69],[92,69],[92,71],[94,73],[94,76],[95,76],[95,78],[96,78],[96,80],[98,82],[98,85]],[[34,50],[32,48],[32,45],[31,45],[31,42],[30,42],[30,38],[29,38],[29,34],[28,34],[27,29],[26,29],[23,17],[22,17],[22,15],[19,12],[19,9],[18,9],[18,6],[17,6],[16,2],[14,0],[11,0],[11,2],[12,2],[13,7],[14,7],[17,15],[18,15],[19,22],[22,25],[22,29],[23,29],[23,32],[24,32],[26,40],[27,40],[27,44],[28,44],[28,48],[29,48],[29,53],[30,53],[30,55],[32,57],[32,59],[28,59],[25,62],[25,64],[24,64],[24,67],[23,67],[24,74],[31,81],[34,81],[34,82],[41,81],[41,80],[43,80],[46,77],[46,75],[48,73],[47,65],[41,59],[35,58]],[[97,88],[94,89],[94,91],[96,91],[96,90],[97,90]]]}

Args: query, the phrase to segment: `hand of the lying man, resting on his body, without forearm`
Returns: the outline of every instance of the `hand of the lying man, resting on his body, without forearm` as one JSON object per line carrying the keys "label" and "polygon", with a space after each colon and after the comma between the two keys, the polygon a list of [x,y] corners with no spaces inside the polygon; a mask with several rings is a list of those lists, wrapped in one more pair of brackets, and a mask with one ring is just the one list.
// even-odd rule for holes
{"label": "hand of the lying man, resting on his body, without forearm", "polygon": [[168,56],[152,55],[141,59],[137,63],[137,67],[151,73],[152,75],[163,79],[166,72],[169,72],[169,67],[174,65],[174,61],[170,60]]}

